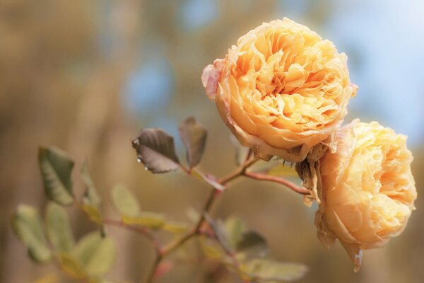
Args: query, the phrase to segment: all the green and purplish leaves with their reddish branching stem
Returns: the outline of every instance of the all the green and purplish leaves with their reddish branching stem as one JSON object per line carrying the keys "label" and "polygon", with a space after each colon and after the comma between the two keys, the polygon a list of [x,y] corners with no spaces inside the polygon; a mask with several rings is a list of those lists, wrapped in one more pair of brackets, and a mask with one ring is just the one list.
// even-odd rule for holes
{"label": "all the green and purplish leaves with their reddish branching stem", "polygon": [[[193,117],[182,122],[179,135],[187,150],[188,169],[179,163],[174,139],[162,129],[143,129],[132,143],[139,161],[153,173],[165,173],[181,167],[184,173],[203,180],[213,188],[213,193],[201,214],[194,209],[187,210],[193,222],[191,228],[186,223],[167,219],[164,214],[143,211],[136,197],[123,185],[116,185],[111,191],[112,202],[119,211],[120,220],[103,219],[102,202],[87,163],[84,162],[81,169],[81,179],[85,187],[79,202],[73,196],[71,173],[74,163],[71,158],[59,149],[40,147],[38,156],[42,180],[45,193],[49,200],[52,200],[47,204],[45,211],[45,227],[37,210],[28,205],[20,205],[12,216],[13,231],[28,249],[30,257],[35,262],[49,262],[55,258],[66,275],[81,282],[107,283],[109,281],[103,277],[112,267],[117,251],[112,240],[105,234],[105,226],[114,225],[146,236],[160,257],[165,257],[189,238],[198,235],[201,236],[201,247],[209,259],[233,270],[250,282],[283,282],[300,278],[306,272],[306,267],[267,258],[269,249],[266,240],[259,233],[247,230],[241,219],[230,217],[224,222],[214,220],[208,215],[216,192],[225,189],[223,184],[228,176],[216,178],[194,169],[201,161],[207,133]],[[245,173],[248,167],[246,164],[250,166],[256,161],[250,152],[247,157],[242,158],[242,151],[242,147],[237,149],[242,166],[229,175],[231,180]],[[278,175],[285,171],[286,169],[275,166],[269,173]],[[72,203],[76,203],[75,207],[100,226],[100,231],[88,233],[77,243],[73,238],[69,216],[61,207]],[[44,229],[47,231],[48,243]],[[154,232],[158,230],[169,231],[175,236],[174,240],[163,245],[155,236]],[[158,266],[155,265],[155,268]],[[54,283],[60,279],[47,276],[38,281]]]}

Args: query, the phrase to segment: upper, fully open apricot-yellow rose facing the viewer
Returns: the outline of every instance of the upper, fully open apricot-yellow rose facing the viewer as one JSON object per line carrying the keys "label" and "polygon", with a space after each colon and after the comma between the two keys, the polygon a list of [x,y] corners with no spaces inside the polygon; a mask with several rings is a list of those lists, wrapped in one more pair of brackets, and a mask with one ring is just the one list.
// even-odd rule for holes
{"label": "upper, fully open apricot-yellow rose facing the viewer", "polygon": [[288,18],[240,37],[201,79],[242,145],[290,162],[302,161],[327,138],[331,144],[357,91],[346,54]]}

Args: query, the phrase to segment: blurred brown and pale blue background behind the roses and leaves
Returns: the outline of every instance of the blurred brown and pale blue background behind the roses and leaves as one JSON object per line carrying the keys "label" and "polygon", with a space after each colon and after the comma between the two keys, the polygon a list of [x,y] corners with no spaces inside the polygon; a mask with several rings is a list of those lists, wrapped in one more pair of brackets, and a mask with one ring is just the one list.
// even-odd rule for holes
{"label": "blurred brown and pale blue background behind the roses and leaves", "polygon": [[[201,169],[224,175],[235,166],[229,131],[204,94],[200,75],[240,35],[288,17],[332,40],[349,57],[360,86],[346,121],[378,120],[408,135],[418,200],[406,231],[353,266],[339,244],[324,250],[314,210],[278,185],[240,180],[213,214],[240,216],[264,234],[278,260],[304,262],[299,282],[423,282],[424,278],[424,2],[419,0],[1,0],[0,1],[0,281],[34,282],[55,269],[31,262],[10,229],[19,203],[42,208],[37,146],[55,145],[88,159],[105,202],[124,183],[144,209],[187,220],[208,187],[181,172],[153,175],[136,162],[130,139],[141,127],[177,135],[194,115],[209,129]],[[177,141],[180,156],[182,144]],[[83,186],[75,175],[75,191]],[[95,226],[69,209],[73,231]],[[119,255],[111,279],[139,282],[153,248],[141,236],[108,229]],[[159,282],[216,282],[204,267],[177,267]],[[235,282],[234,278],[226,282]]]}

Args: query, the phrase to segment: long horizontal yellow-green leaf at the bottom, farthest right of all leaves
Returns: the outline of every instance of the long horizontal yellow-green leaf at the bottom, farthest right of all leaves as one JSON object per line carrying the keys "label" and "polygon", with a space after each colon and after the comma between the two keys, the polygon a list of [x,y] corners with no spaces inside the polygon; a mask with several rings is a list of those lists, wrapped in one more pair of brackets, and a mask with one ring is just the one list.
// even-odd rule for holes
{"label": "long horizontal yellow-green leaf at the bottom, farthest right of all leaves", "polygon": [[307,267],[298,263],[255,258],[243,262],[240,270],[254,282],[286,282],[303,277]]}

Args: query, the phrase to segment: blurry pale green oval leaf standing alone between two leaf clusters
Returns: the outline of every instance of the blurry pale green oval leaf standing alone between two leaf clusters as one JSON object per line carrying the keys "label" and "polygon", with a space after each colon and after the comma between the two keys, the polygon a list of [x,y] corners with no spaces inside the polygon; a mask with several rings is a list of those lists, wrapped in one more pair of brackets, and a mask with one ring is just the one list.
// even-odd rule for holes
{"label": "blurry pale green oval leaf standing alone between two leaf clusters", "polygon": [[134,195],[123,185],[114,186],[112,189],[112,200],[120,214],[132,217],[139,215],[139,202],[137,202]]}

